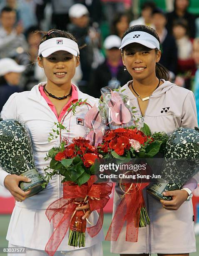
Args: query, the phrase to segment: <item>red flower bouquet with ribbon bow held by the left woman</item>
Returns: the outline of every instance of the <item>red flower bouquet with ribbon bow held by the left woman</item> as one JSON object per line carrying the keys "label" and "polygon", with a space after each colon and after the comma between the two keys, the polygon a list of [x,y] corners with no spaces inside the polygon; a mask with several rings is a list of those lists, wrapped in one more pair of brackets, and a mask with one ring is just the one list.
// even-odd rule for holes
{"label": "red flower bouquet with ribbon bow held by the left woman", "polygon": [[[55,253],[68,228],[70,246],[85,246],[86,230],[91,237],[100,232],[103,224],[103,207],[107,204],[112,191],[112,183],[95,183],[95,162],[102,157],[95,145],[102,142],[104,131],[104,123],[96,106],[86,113],[85,123],[89,128],[89,140],[78,137],[73,138],[72,143],[68,144],[68,140],[63,138],[60,147],[51,148],[47,155],[47,159],[51,159],[50,166],[45,169],[47,183],[56,174],[63,177],[63,197],[53,202],[46,210],[47,218],[52,221],[55,228],[46,245],[46,251],[50,255]],[[57,136],[61,138],[61,131],[65,127],[62,124],[56,125],[60,128],[60,131],[57,130]],[[75,200],[79,197],[82,201]],[[86,227],[88,220],[82,220],[85,210],[75,210],[76,207],[86,204],[89,204],[90,211],[100,209],[97,224],[89,228]]]}

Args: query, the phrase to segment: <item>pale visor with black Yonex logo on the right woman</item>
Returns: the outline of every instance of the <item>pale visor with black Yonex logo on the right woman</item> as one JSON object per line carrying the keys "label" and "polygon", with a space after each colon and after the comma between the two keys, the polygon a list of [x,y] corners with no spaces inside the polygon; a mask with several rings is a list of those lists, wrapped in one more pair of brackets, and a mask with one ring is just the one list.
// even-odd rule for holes
{"label": "pale visor with black Yonex logo on the right woman", "polygon": [[124,38],[122,39],[122,45],[119,47],[119,49],[122,49],[124,48],[124,46],[132,43],[142,44],[150,49],[157,48],[159,50],[159,41],[157,40],[157,38],[150,35],[149,33],[142,31],[130,32],[126,36],[124,36]]}

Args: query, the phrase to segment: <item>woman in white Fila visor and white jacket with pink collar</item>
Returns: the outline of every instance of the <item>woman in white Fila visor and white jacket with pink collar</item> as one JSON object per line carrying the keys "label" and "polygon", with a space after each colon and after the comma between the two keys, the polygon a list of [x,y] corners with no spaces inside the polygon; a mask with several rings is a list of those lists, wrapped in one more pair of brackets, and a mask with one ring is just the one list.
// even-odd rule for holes
{"label": "woman in white Fila visor and white jacket with pink collar", "polygon": [[[38,53],[38,63],[45,71],[47,82],[35,85],[31,91],[14,93],[1,112],[1,118],[20,119],[27,125],[32,139],[35,164],[40,173],[49,166],[49,162],[44,160],[46,153],[60,143],[59,137],[50,143],[47,140],[54,123],[62,121],[72,102],[87,99],[92,106],[98,103],[97,99],[80,92],[71,84],[75,68],[80,64],[79,54],[77,41],[70,33],[60,30],[49,31],[43,36]],[[63,122],[67,128],[70,123],[70,132],[62,131],[62,137],[69,138],[69,142],[74,137],[85,136],[87,131],[83,118],[88,108],[81,105],[76,111],[76,115],[66,115]],[[82,119],[82,123],[78,123],[77,118]],[[17,201],[7,232],[8,246],[26,248],[26,254],[17,253],[17,256],[43,256],[47,255],[45,246],[53,232],[45,211],[52,202],[62,197],[61,177],[56,175],[46,189],[29,198],[26,198],[28,192],[23,192],[18,187],[19,181],[28,182],[26,179],[8,175],[7,172],[0,170],[0,184],[5,186]],[[91,213],[87,209],[85,217],[89,218],[92,225],[97,223],[96,211]],[[85,247],[74,248],[68,246],[67,233],[55,255],[69,253],[75,256],[102,256],[103,239],[102,230],[94,238],[86,233]]]}

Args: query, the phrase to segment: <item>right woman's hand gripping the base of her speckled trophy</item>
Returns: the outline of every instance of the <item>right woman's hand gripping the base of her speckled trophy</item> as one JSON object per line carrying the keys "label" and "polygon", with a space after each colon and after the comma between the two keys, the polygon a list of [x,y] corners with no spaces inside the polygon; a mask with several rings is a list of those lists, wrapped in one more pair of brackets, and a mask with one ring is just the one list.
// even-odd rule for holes
{"label": "right woman's hand gripping the base of her speckled trophy", "polygon": [[186,190],[174,190],[163,192],[164,196],[172,197],[172,201],[160,200],[163,208],[176,211],[187,200],[188,193]]}

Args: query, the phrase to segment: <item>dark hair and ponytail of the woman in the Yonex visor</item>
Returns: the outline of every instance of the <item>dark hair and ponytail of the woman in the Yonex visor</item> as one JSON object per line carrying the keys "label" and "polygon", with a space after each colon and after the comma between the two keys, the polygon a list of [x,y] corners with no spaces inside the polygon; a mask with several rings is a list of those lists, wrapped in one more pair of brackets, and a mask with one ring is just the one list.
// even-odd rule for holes
{"label": "dark hair and ponytail of the woman in the Yonex visor", "polygon": [[[142,32],[146,32],[152,36],[154,36],[159,42],[159,36],[157,34],[157,32],[153,29],[150,28],[149,26],[146,25],[135,25],[132,26],[130,28],[127,29],[127,31],[124,33],[124,35],[122,36],[122,39],[124,38],[124,36],[126,36],[127,34],[131,33],[131,32],[135,32],[135,31],[142,31]],[[126,46],[125,46],[126,47]],[[125,47],[122,49],[122,51],[125,51]],[[155,49],[156,52],[158,51],[158,49]],[[155,74],[157,76],[157,78],[159,79],[164,79],[164,80],[169,80],[170,77],[170,73],[169,70],[167,68],[165,68],[162,64],[160,64],[159,62],[156,63],[156,67],[155,67]]]}

